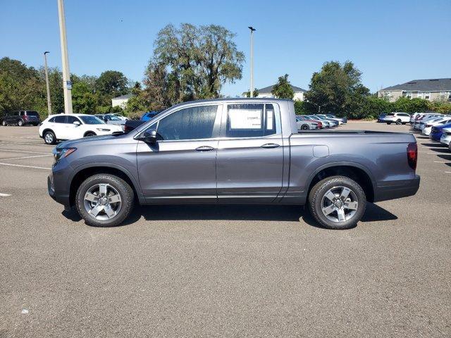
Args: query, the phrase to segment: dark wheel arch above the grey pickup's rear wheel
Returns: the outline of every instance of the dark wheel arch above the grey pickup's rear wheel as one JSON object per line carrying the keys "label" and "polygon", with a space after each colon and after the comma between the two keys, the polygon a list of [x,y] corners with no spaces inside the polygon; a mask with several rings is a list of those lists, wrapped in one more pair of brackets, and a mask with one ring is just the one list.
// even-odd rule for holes
{"label": "dark wheel arch above the grey pickup's rear wheel", "polygon": [[317,168],[309,176],[307,196],[309,196],[311,188],[313,188],[316,183],[331,176],[345,176],[356,181],[364,190],[366,200],[369,202],[374,201],[376,181],[374,180],[373,175],[371,175],[371,172],[368,168],[364,167],[364,165],[353,162],[328,163],[327,165]]}

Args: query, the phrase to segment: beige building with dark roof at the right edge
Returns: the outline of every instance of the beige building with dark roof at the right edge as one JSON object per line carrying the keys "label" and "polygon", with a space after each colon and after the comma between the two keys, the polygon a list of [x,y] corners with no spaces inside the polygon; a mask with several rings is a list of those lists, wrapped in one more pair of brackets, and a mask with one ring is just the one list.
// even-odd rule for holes
{"label": "beige building with dark roof at the right edge", "polygon": [[419,97],[429,101],[451,101],[451,79],[412,80],[381,89],[378,96],[386,97],[390,102],[401,96],[409,99]]}

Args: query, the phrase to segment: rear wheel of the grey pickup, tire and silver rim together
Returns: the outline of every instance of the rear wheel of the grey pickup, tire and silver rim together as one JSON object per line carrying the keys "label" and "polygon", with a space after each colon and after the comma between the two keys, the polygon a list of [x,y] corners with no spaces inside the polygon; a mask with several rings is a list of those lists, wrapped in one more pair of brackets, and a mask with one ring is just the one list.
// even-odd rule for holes
{"label": "rear wheel of the grey pickup, tire and silver rim together", "polygon": [[309,210],[316,222],[328,229],[350,229],[362,219],[366,196],[360,185],[345,176],[316,183],[309,194]]}

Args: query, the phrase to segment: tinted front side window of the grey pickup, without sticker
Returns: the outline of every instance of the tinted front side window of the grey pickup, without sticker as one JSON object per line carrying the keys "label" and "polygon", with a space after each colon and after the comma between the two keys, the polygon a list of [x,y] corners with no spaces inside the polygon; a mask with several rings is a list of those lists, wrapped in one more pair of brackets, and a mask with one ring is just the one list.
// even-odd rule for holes
{"label": "tinted front side window of the grey pickup, without sticker", "polygon": [[209,139],[213,137],[217,111],[217,105],[180,109],[160,120],[156,131],[167,141]]}

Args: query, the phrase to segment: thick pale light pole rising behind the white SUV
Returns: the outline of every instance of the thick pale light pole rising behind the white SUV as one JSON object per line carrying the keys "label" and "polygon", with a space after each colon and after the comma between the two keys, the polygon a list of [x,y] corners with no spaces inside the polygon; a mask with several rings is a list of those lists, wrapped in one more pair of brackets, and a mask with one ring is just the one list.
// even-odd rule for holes
{"label": "thick pale light pole rising behind the white SUV", "polygon": [[64,18],[64,1],[58,0],[59,37],[61,41],[61,63],[63,65],[64,113],[72,113],[72,82],[70,82],[68,41],[66,39],[66,19]]}

